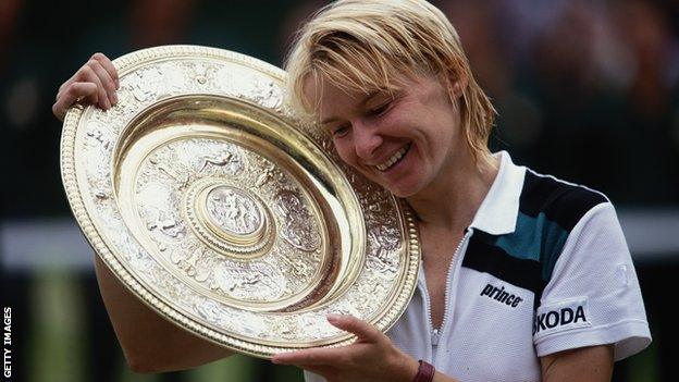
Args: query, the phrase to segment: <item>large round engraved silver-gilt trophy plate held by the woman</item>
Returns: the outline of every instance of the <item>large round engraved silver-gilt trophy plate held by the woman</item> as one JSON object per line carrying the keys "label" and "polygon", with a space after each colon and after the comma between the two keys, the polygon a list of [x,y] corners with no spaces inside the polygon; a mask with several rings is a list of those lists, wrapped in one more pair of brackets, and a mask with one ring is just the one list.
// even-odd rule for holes
{"label": "large round engraved silver-gilt trophy plate held by the woman", "polygon": [[329,313],[395,323],[420,261],[411,213],[294,114],[282,70],[197,46],[113,63],[120,101],[69,111],[61,171],[77,223],[126,287],[262,358],[351,343]]}

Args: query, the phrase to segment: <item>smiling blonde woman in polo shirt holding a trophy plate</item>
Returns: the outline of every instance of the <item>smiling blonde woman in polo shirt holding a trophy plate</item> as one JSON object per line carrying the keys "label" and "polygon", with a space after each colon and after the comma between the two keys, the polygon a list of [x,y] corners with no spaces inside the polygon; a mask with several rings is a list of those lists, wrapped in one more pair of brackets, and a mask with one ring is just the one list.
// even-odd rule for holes
{"label": "smiling blonde woman in polo shirt holding a trophy plate", "polygon": [[[338,1],[299,32],[292,102],[318,119],[342,160],[405,198],[423,269],[386,334],[348,316],[340,348],[273,358],[307,380],[607,381],[651,341],[615,210],[602,194],[492,155],[494,109],[447,19],[424,1]],[[118,77],[95,54],[60,89],[107,109]],[[133,369],[173,370],[225,356],[176,330],[97,259],[102,296]],[[137,341],[136,333],[151,333]],[[434,371],[435,368],[435,371]]]}

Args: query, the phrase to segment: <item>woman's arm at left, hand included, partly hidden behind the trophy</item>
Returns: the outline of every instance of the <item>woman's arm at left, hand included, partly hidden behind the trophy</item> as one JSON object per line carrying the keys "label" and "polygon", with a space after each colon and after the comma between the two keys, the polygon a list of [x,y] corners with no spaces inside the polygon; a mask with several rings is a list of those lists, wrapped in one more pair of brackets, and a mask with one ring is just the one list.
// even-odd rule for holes
{"label": "woman's arm at left, hand included, partly hidden behind the trophy", "polygon": [[[76,100],[109,109],[118,102],[115,90],[119,87],[118,71],[111,60],[95,53],[61,85],[52,111],[63,121]],[[158,316],[127,291],[98,256],[95,256],[95,270],[103,304],[125,359],[134,371],[188,369],[231,355]]]}

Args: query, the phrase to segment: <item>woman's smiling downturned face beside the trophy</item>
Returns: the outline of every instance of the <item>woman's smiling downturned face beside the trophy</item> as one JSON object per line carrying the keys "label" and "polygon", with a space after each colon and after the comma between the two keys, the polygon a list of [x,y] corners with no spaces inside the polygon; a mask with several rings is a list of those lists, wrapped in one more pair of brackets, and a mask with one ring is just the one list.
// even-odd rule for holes
{"label": "woman's smiling downturned face beside the trophy", "polygon": [[440,79],[421,76],[402,83],[393,98],[388,93],[347,94],[328,83],[309,82],[306,91],[312,100],[321,97],[321,125],[340,157],[394,195],[409,197],[469,151],[459,108]]}

